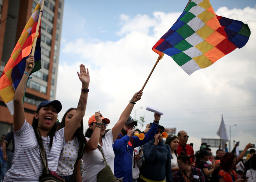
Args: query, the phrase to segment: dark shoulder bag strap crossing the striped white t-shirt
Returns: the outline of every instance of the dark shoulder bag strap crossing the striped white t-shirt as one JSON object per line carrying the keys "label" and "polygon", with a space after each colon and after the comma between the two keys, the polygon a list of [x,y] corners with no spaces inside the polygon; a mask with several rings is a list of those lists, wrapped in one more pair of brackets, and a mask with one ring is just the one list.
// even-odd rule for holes
{"label": "dark shoulder bag strap crossing the striped white t-shirt", "polygon": [[35,129],[35,134],[36,134],[36,139],[38,141],[38,144],[39,144],[39,150],[40,150],[40,158],[41,158],[41,161],[43,163],[43,173],[50,173],[50,170],[48,168],[48,163],[47,163],[47,156],[46,156],[46,153],[45,153],[45,148],[43,146],[43,140],[42,140],[42,137],[40,135],[40,132],[38,130],[38,128]]}

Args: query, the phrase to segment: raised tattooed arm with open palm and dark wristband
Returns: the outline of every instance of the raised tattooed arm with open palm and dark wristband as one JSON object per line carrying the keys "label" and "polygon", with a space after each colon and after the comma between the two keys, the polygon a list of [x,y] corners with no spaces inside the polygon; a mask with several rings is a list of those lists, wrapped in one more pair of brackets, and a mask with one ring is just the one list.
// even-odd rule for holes
{"label": "raised tattooed arm with open palm and dark wristband", "polygon": [[87,97],[89,92],[89,83],[90,83],[90,75],[88,68],[85,68],[85,65],[80,65],[80,74],[77,72],[80,81],[82,82],[81,95],[79,98],[76,114],[70,119],[70,121],[66,124],[64,128],[65,141],[69,141],[69,139],[73,136],[74,132],[78,128],[83,116],[85,116],[85,109],[87,104]]}

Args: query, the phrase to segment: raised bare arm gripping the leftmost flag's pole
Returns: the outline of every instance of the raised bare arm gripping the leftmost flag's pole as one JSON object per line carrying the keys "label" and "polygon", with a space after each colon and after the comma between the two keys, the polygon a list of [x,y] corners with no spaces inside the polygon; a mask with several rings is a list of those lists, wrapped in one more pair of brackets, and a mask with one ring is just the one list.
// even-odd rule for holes
{"label": "raised bare arm gripping the leftmost flag's pole", "polygon": [[[29,68],[29,64],[32,64],[32,67]],[[23,107],[23,96],[25,94],[26,84],[29,78],[29,74],[35,66],[35,59],[33,56],[29,55],[26,59],[26,67],[22,75],[21,81],[14,93],[14,114],[13,114],[13,130],[17,131],[25,122],[25,112]]]}

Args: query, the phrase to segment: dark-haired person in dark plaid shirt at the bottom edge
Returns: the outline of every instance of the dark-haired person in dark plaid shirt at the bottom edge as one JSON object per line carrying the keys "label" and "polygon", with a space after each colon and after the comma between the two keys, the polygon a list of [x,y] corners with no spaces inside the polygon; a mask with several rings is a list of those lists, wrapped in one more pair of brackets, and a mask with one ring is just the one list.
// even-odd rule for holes
{"label": "dark-haired person in dark plaid shirt at the bottom edge", "polygon": [[179,170],[173,174],[173,182],[205,182],[201,169],[190,165],[190,158],[182,153],[177,158]]}

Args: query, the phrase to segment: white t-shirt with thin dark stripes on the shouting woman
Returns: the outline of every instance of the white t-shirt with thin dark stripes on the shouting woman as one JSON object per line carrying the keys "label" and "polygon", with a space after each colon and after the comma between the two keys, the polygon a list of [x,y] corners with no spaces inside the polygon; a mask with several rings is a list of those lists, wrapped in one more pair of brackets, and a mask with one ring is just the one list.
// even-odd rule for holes
{"label": "white t-shirt with thin dark stripes on the shouting woman", "polygon": [[[21,129],[14,132],[14,137],[15,151],[12,158],[12,167],[5,174],[4,182],[38,182],[42,175],[43,164],[33,127],[25,120]],[[49,147],[50,136],[42,136],[42,140],[47,155],[48,167],[51,171],[56,171],[59,156],[65,144],[64,128],[56,131],[51,150]]]}

